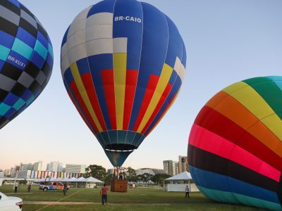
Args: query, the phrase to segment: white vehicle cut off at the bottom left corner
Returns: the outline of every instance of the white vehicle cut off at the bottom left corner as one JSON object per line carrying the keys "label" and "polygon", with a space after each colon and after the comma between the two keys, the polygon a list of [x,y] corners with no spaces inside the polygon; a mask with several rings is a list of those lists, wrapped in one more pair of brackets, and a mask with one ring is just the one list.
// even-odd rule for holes
{"label": "white vehicle cut off at the bottom left corner", "polygon": [[13,196],[6,196],[0,192],[1,211],[20,211],[23,207],[23,199]]}

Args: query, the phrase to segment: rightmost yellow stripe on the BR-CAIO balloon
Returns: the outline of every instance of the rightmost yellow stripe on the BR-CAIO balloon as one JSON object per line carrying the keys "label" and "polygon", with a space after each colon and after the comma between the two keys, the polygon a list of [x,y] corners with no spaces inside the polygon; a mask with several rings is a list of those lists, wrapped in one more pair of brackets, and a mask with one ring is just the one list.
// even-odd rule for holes
{"label": "rightmost yellow stripe on the BR-CAIO balloon", "polygon": [[169,82],[169,79],[171,78],[171,74],[173,72],[173,68],[171,68],[169,65],[164,63],[163,69],[161,70],[161,76],[159,77],[159,82],[157,84],[156,90],[154,91],[154,94],[152,96],[152,100],[149,103],[149,106],[146,110],[146,113],[137,129],[137,132],[142,132],[145,125],[149,121],[149,118],[152,116],[152,113],[154,112],[154,109],[157,107],[159,103],[159,99],[161,98],[161,95],[164,93],[164,90],[166,89],[166,86]]}

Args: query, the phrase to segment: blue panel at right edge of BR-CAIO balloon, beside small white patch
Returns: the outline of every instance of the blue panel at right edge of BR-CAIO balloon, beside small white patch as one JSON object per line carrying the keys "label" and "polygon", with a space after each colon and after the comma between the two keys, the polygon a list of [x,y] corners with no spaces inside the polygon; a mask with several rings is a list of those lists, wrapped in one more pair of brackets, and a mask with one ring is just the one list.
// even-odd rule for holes
{"label": "blue panel at right edge of BR-CAIO balloon, beside small white patch", "polygon": [[176,25],[172,22],[170,18],[166,16],[168,22],[168,53],[166,56],[166,64],[174,68],[176,63],[176,57],[182,58],[182,39],[176,28]]}

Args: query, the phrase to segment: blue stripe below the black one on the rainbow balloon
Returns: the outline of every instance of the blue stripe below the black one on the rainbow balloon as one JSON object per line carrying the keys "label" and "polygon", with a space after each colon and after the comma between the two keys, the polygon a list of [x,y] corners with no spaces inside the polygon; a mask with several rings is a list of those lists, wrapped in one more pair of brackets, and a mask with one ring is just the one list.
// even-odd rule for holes
{"label": "blue stripe below the black one on the rainbow balloon", "polygon": [[189,166],[189,170],[192,174],[192,178],[197,178],[195,183],[204,188],[229,191],[253,198],[271,201],[273,203],[279,203],[277,193],[259,186],[254,186],[232,177],[226,177],[222,174],[201,170],[196,167],[192,167],[191,165]]}

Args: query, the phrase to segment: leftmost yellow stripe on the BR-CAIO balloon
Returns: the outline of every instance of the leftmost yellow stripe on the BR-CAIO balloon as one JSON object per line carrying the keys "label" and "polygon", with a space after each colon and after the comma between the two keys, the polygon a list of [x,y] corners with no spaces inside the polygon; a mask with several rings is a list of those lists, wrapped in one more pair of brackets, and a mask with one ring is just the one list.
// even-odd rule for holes
{"label": "leftmost yellow stripe on the BR-CAIO balloon", "polygon": [[82,97],[86,107],[87,107],[87,110],[89,111],[91,117],[92,117],[92,120],[94,121],[94,123],[96,124],[97,128],[99,129],[99,132],[102,132],[102,127],[97,119],[97,116],[96,114],[94,113],[94,110],[92,108],[92,105],[90,103],[90,99],[87,95],[87,91],[84,87],[84,84],[82,82],[82,79],[80,77],[80,73],[78,71],[78,65],[76,63],[73,63],[71,65],[71,73],[73,74],[73,79],[75,79],[75,84],[76,86],[78,87],[78,90],[80,92],[80,96]]}

